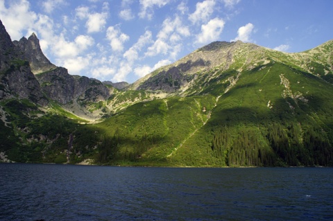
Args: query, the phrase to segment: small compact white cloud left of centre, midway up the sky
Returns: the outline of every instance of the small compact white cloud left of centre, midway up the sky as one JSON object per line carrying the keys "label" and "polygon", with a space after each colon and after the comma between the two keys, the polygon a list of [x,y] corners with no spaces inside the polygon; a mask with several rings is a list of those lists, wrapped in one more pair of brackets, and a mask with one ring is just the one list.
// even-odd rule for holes
{"label": "small compact white cloud left of centre, midway up the sky", "polygon": [[106,31],[106,38],[113,51],[123,51],[123,43],[130,39],[128,35],[121,33],[118,26],[110,26]]}

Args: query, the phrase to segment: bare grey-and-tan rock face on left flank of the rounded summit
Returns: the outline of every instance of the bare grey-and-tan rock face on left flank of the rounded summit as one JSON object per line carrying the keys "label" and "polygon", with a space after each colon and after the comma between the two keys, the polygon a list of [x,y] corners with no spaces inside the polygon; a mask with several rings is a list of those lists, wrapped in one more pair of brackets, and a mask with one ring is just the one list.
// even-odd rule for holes
{"label": "bare grey-and-tan rock face on left flank of the rounded summit", "polygon": [[151,91],[163,91],[167,93],[182,93],[201,73],[214,67],[229,69],[234,62],[234,56],[244,46],[260,51],[259,46],[237,42],[212,42],[190,53],[173,64],[157,69],[146,77],[139,79],[130,86],[131,89],[144,89]]}

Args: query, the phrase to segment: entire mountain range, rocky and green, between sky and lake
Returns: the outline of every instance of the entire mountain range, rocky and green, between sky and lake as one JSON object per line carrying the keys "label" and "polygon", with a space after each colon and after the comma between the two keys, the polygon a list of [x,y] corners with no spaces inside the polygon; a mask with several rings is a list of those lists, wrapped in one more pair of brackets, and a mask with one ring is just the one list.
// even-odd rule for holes
{"label": "entire mountain range, rocky and green, between sky and lake", "polygon": [[35,35],[13,44],[0,30],[2,161],[333,166],[332,40],[301,53],[212,42],[117,85],[71,76]]}

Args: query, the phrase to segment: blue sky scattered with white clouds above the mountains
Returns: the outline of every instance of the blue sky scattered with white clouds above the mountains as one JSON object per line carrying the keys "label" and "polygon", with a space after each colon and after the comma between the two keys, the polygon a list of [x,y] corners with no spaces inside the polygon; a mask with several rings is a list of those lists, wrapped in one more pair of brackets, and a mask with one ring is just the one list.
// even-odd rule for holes
{"label": "blue sky scattered with white clouds above the mountains", "polygon": [[0,0],[12,40],[72,75],[135,82],[214,41],[300,52],[333,39],[332,0]]}

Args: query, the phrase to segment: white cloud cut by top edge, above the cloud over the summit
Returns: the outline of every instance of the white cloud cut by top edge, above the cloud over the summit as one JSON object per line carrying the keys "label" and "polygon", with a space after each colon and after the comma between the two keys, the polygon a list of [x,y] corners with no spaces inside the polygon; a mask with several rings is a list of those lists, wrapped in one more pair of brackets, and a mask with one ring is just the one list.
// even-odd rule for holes
{"label": "white cloud cut by top edge, above the cloud over the summit", "polygon": [[193,24],[207,21],[214,12],[214,6],[214,0],[205,0],[196,3],[196,11],[189,15],[189,20],[192,21]]}

